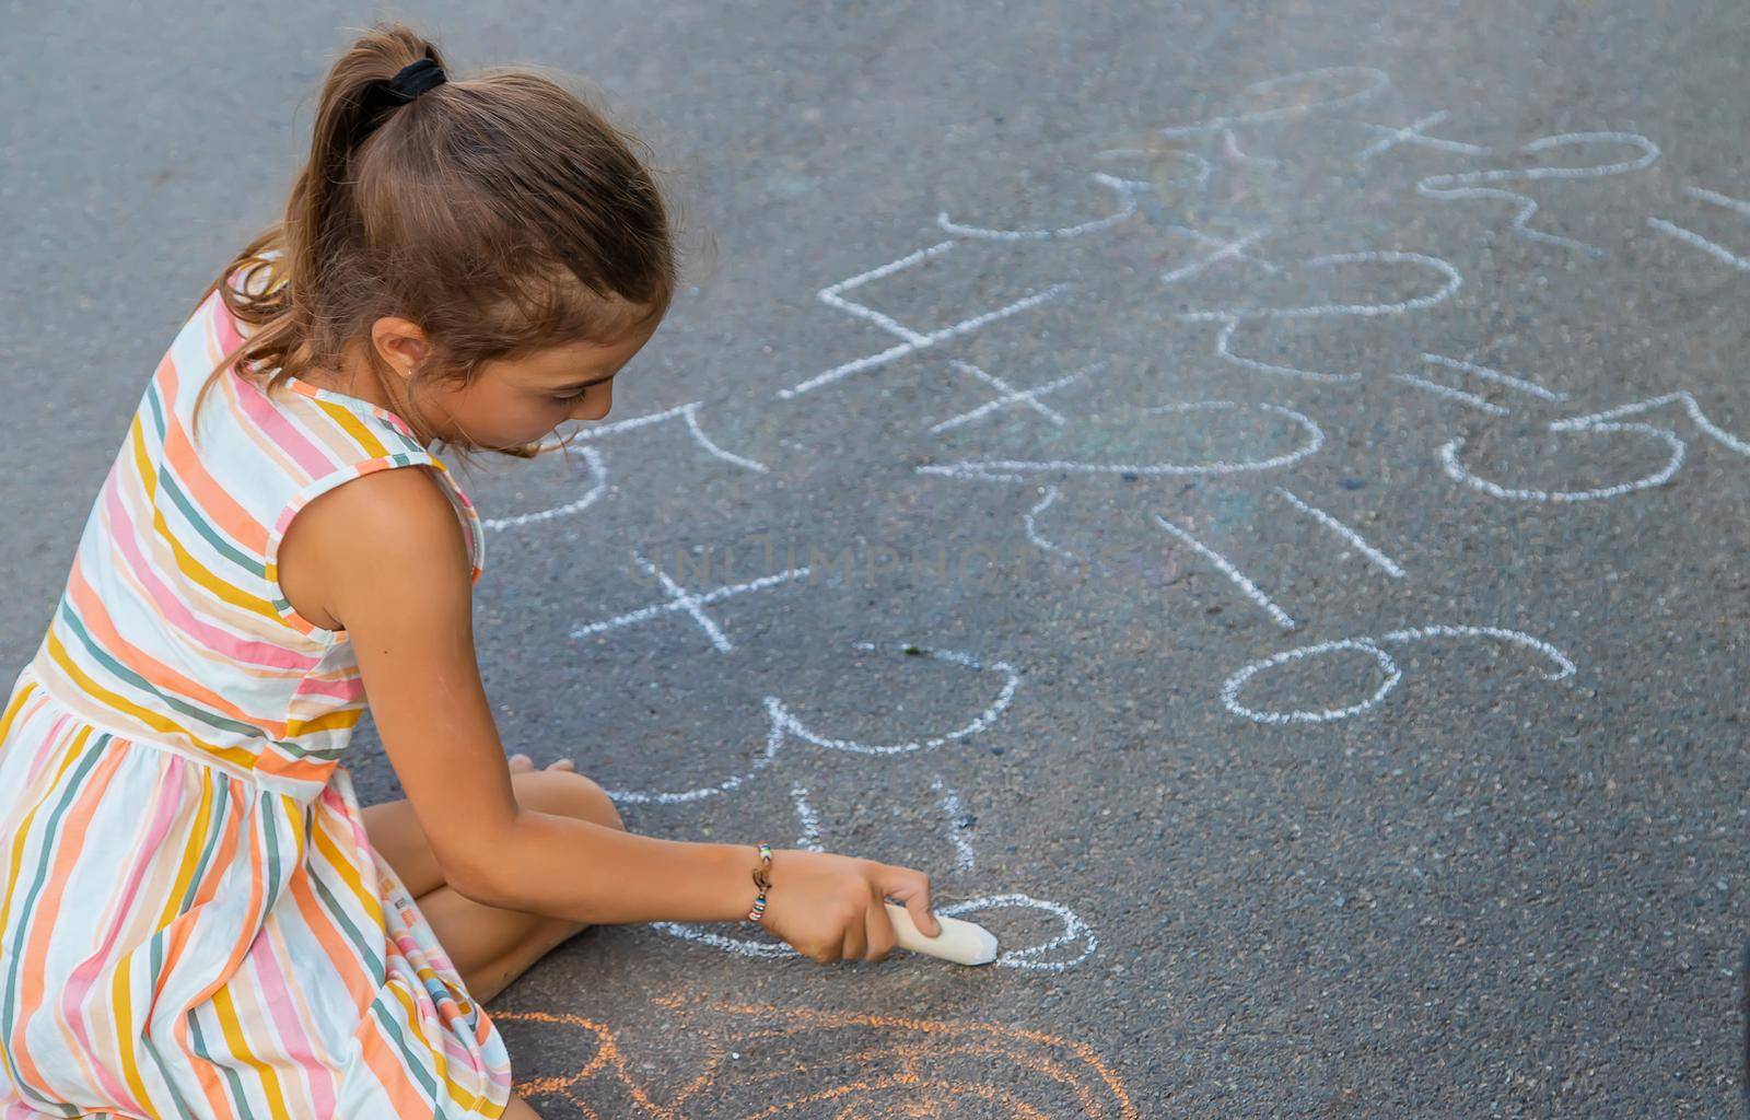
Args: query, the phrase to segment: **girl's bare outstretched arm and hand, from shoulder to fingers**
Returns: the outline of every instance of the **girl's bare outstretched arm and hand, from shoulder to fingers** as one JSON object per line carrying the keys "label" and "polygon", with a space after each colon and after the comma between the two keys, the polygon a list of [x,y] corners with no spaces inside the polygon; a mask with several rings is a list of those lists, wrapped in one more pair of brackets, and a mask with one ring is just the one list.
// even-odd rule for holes
{"label": "girl's bare outstretched arm and hand, from shoulder to fingers", "polygon": [[[637,836],[516,802],[474,660],[466,541],[439,485],[399,469],[329,490],[294,518],[280,570],[282,584],[296,565],[298,586],[322,588],[322,614],[346,628],[383,749],[444,880],[492,906],[590,924],[746,917],[754,845]],[[863,956],[891,945],[882,896],[938,929],[922,873],[780,850],[765,920],[816,959]]]}

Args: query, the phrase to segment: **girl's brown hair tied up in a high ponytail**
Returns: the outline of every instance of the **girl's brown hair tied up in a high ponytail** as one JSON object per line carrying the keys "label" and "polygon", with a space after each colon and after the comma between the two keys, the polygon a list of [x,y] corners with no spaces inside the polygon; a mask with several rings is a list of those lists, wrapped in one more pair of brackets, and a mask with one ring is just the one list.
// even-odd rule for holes
{"label": "girl's brown hair tied up in a high ponytail", "polygon": [[[338,368],[354,340],[394,387],[369,345],[383,315],[425,332],[411,397],[430,378],[466,385],[485,360],[611,343],[667,313],[676,248],[670,206],[640,161],[649,147],[527,66],[444,80],[371,114],[373,84],[420,58],[443,66],[429,40],[378,23],[329,70],[285,217],[201,294],[219,290],[257,329],[201,385],[196,415],[233,364],[257,378],[278,368],[271,390]],[[536,446],[504,453],[527,458]]]}

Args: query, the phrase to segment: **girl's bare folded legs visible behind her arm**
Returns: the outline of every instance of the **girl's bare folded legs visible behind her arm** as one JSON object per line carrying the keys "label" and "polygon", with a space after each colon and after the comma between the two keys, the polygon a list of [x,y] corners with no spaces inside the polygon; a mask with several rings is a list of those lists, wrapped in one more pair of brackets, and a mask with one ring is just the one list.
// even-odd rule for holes
{"label": "girl's bare folded legs visible behind her arm", "polygon": [[[516,800],[539,812],[625,828],[620,810],[602,788],[569,766],[564,761],[534,770],[527,758],[514,758],[511,784]],[[446,886],[430,842],[406,800],[364,807],[364,830],[371,847],[388,861],[418,901],[432,933],[478,1003],[490,1001],[528,966],[583,929],[581,922],[569,919],[486,906]],[[513,1115],[516,1113],[506,1113]]]}

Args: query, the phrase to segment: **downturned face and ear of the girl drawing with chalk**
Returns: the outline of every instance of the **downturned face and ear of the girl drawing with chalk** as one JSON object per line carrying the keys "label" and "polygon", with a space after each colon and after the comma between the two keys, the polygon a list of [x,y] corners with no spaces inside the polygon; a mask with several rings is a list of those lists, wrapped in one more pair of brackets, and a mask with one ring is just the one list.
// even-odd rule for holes
{"label": "downturned face and ear of the girl drawing with chalk", "polygon": [[[402,320],[380,318],[373,338],[397,369],[406,369],[425,343],[413,324],[394,324]],[[656,327],[656,320],[634,327],[609,345],[569,343],[516,360],[483,362],[460,388],[422,387],[413,397],[416,427],[464,446],[514,448],[544,439],[570,420],[602,420],[614,402],[614,374]]]}

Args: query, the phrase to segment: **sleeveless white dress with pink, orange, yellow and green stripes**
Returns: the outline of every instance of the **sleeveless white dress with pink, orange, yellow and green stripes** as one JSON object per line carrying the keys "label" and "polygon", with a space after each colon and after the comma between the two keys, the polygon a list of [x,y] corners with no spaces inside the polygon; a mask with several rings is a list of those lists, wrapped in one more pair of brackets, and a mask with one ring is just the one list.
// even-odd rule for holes
{"label": "sleeveless white dress with pink, orange, yellow and green stripes", "polygon": [[0,714],[0,1120],[499,1116],[511,1068],[341,765],[343,630],[275,555],[346,480],[430,467],[404,420],[228,369],[219,292],[159,362]]}

